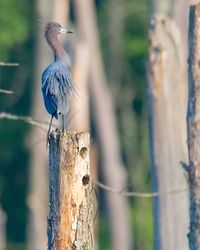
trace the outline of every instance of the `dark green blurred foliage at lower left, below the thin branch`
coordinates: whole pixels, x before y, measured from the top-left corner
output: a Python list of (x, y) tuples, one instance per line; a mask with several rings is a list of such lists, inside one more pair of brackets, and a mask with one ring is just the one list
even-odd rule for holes
[(0, 175), (4, 180), (0, 184), (0, 201), (7, 213), (8, 238), (14, 241), (24, 241), (27, 219), (27, 152), (22, 146), (24, 129), (24, 124), (19, 122), (14, 126), (9, 121), (0, 122)]

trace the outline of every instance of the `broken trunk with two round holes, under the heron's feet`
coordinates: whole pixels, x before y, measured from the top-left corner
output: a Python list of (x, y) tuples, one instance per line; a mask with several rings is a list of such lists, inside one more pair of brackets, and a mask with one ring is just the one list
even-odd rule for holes
[(94, 249), (89, 147), (88, 133), (51, 133), (48, 250)]

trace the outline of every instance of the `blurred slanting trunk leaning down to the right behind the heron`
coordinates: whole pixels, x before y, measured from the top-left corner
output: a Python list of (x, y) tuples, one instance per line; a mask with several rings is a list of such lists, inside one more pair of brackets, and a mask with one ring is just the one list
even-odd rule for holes
[[(87, 41), (91, 54), (90, 94), (93, 115), (102, 152), (102, 171), (108, 185), (115, 188), (126, 186), (125, 171), (120, 158), (119, 141), (114, 109), (106, 84), (92, 0), (75, 0), (76, 18), (82, 37)], [(130, 225), (128, 201), (125, 197), (107, 193), (109, 219), (112, 233), (112, 249), (130, 250)]]

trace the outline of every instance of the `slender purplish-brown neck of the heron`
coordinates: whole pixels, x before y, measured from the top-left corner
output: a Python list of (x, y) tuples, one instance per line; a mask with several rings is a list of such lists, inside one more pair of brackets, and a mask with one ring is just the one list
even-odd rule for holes
[(54, 52), (55, 61), (57, 60), (65, 61), (68, 59), (68, 54), (61, 45), (61, 43), (59, 42), (57, 37), (50, 37), (50, 39), (47, 39), (47, 41)]

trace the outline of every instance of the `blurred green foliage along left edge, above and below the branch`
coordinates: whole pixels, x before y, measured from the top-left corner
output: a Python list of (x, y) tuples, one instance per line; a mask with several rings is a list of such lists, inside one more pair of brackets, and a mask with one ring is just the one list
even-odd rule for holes
[[(14, 91), (13, 95), (1, 94), (1, 112), (30, 113), (33, 10), (33, 1), (0, 1), (0, 61), (20, 64), (19, 67), (0, 67), (0, 88)], [(28, 132), (29, 127), (24, 123), (0, 120), (0, 203), (7, 214), (10, 250), (22, 250), (26, 240), (29, 153), (25, 139)]]

